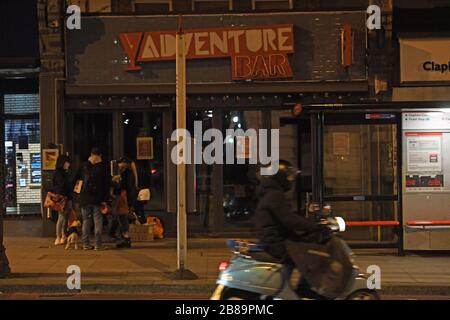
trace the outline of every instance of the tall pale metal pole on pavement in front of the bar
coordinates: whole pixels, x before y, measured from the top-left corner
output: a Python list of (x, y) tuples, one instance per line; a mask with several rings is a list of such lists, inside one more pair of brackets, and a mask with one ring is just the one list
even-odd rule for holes
[[(176, 34), (176, 125), (177, 130), (186, 130), (186, 53), (181, 18)], [(186, 139), (187, 137), (184, 137)], [(181, 139), (181, 138), (179, 138)], [(178, 140), (178, 145), (181, 141)], [(183, 140), (183, 158), (191, 141)], [(181, 154), (180, 154), (181, 156)], [(186, 163), (177, 165), (177, 270), (172, 275), (176, 279), (197, 279), (198, 277), (186, 268), (187, 260), (187, 203), (186, 203)]]

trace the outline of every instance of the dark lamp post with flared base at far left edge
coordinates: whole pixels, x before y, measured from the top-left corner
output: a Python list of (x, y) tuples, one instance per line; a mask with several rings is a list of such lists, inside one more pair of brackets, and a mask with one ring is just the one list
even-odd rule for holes
[[(3, 103), (0, 102), (0, 201), (5, 201), (5, 119)], [(3, 216), (5, 206), (0, 206), (0, 278), (5, 278), (11, 272), (6, 249), (3, 245)]]

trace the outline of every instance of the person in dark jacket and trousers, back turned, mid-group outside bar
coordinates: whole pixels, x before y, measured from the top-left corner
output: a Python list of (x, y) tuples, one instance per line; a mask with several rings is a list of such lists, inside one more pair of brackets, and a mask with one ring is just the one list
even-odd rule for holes
[[(79, 205), (83, 217), (82, 241), (84, 250), (102, 250), (103, 215), (100, 209), (109, 199), (110, 177), (98, 148), (92, 148), (91, 155), (77, 175), (83, 181)], [(94, 220), (95, 247), (90, 245), (89, 233)]]

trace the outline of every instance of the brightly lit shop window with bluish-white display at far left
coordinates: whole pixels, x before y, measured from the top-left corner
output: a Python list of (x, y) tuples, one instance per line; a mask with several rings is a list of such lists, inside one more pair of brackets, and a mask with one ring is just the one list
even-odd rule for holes
[(41, 208), (39, 96), (5, 95), (4, 108), (6, 213), (39, 214)]

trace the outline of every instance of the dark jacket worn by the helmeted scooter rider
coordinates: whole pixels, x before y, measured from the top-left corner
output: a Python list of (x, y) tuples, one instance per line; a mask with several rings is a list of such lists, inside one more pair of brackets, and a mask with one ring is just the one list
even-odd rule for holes
[(315, 221), (292, 211), (282, 185), (274, 178), (262, 179), (258, 198), (255, 222), (259, 239), (266, 246), (266, 252), (277, 259), (287, 257), (285, 240), (301, 241), (299, 232), (314, 232), (321, 228)]

